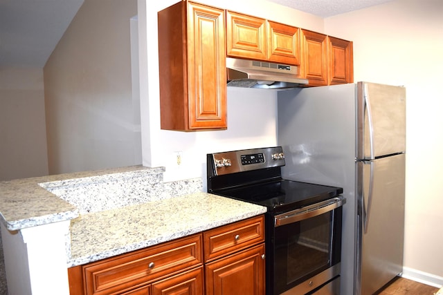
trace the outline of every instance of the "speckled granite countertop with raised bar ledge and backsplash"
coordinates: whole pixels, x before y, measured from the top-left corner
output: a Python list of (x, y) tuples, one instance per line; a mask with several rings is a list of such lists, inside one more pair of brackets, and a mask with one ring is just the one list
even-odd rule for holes
[(129, 166), (1, 181), (0, 221), (17, 231), (71, 220), (66, 256), (73, 267), (266, 212), (202, 193), (192, 180), (165, 184), (164, 171)]

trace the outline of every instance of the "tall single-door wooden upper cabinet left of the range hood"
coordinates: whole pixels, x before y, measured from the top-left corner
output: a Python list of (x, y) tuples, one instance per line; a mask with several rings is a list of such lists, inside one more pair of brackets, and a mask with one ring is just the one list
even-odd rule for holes
[(226, 129), (224, 10), (181, 1), (158, 17), (161, 129)]

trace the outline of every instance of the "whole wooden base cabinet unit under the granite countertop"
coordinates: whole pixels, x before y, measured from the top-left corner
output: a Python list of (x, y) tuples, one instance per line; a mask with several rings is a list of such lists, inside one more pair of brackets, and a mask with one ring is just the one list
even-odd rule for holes
[(264, 216), (71, 267), (68, 276), (71, 295), (264, 295)]

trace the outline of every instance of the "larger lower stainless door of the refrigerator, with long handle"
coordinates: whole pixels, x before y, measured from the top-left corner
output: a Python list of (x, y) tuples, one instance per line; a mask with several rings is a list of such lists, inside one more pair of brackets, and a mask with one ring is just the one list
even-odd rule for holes
[[(369, 295), (403, 270), (405, 154), (357, 163), (356, 294)], [(371, 178), (372, 177), (372, 178)], [(361, 288), (361, 292), (359, 292)]]

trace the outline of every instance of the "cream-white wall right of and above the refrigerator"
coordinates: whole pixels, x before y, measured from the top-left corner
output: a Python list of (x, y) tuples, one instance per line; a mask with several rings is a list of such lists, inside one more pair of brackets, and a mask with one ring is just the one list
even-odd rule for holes
[(325, 30), (354, 41), (354, 81), (406, 86), (404, 272), (443, 284), (443, 1), (392, 1), (329, 17)]

